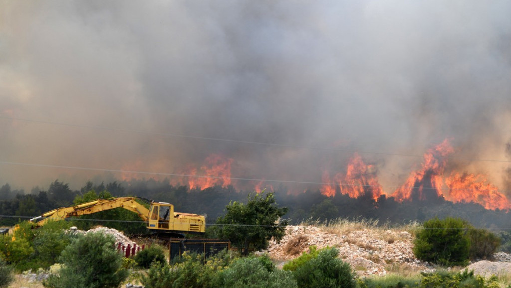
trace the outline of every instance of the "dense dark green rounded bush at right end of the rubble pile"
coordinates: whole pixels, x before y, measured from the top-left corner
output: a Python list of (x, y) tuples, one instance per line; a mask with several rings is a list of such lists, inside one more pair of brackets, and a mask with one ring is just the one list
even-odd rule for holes
[(423, 261), (440, 265), (465, 265), (470, 253), (466, 230), (470, 227), (459, 218), (428, 220), (416, 233), (413, 254)]

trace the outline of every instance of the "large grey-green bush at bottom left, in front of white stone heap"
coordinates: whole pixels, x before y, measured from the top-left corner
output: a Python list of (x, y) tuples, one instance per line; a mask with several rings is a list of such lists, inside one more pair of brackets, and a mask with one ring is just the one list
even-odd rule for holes
[(115, 239), (102, 233), (87, 233), (73, 239), (59, 261), (58, 274), (43, 281), (45, 287), (118, 287), (128, 276), (122, 268), (123, 256), (114, 247)]

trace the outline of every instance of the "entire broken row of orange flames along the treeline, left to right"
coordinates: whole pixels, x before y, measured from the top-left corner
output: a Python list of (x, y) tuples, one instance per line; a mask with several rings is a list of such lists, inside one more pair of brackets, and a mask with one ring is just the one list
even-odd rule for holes
[[(477, 203), (486, 209), (511, 209), (511, 203), (498, 188), (489, 183), (483, 174), (467, 172), (446, 173), (448, 156), (454, 153), (449, 139), (427, 150), (423, 161), (413, 170), (407, 180), (393, 191), (385, 191), (378, 180), (377, 169), (367, 164), (358, 154), (350, 158), (345, 173), (331, 175), (323, 171), (320, 193), (335, 197), (347, 195), (351, 198), (370, 196), (375, 201), (382, 196), (393, 197), (398, 202), (428, 201), (443, 198), (453, 203)], [(239, 181), (233, 181), (231, 165), (234, 159), (212, 154), (197, 166), (189, 164), (176, 173), (179, 177), (171, 184), (188, 185), (190, 189), (205, 189), (215, 185), (239, 188)], [(447, 175), (448, 174), (448, 175)], [(135, 174), (125, 173), (123, 180), (137, 178)], [(260, 192), (263, 188), (273, 190), (264, 180), (251, 181), (250, 189)], [(246, 187), (246, 185), (244, 185)]]

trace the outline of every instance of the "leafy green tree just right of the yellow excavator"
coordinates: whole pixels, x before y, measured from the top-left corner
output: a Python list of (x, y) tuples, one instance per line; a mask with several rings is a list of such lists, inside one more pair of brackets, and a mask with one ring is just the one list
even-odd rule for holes
[(279, 222), (288, 208), (279, 208), (273, 193), (248, 195), (247, 204), (230, 202), (226, 213), (216, 221), (215, 232), (220, 238), (227, 238), (244, 255), (249, 248), (259, 250), (268, 246), (272, 237), (280, 241), (285, 234), (287, 220)]

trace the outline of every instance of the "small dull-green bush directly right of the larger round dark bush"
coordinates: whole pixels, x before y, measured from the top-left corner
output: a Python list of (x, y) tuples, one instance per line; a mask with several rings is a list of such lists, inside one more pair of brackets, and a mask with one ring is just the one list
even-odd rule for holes
[(484, 229), (468, 230), (470, 240), (470, 259), (490, 258), (500, 245), (500, 238)]

